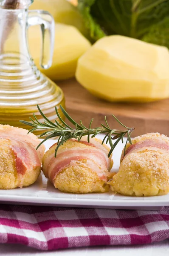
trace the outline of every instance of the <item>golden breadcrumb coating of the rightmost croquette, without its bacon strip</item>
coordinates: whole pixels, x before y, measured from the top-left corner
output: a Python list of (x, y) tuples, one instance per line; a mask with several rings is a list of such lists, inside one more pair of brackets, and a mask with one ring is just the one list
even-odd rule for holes
[[(169, 144), (169, 138), (159, 133), (135, 137), (132, 143), (155, 138), (160, 138)], [(154, 196), (168, 194), (169, 153), (164, 152), (161, 148), (143, 148), (143, 150), (132, 151), (121, 161), (118, 173), (113, 176), (109, 184), (115, 192), (122, 195)]]

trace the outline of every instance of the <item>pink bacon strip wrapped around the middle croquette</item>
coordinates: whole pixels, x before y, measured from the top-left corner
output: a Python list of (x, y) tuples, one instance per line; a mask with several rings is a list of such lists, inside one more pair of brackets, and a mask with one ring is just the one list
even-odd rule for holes
[(104, 151), (102, 151), (93, 143), (88, 143), (86, 141), (80, 141), (78, 143), (90, 145), (92, 148), (65, 148), (65, 151), (62, 151), (61, 153), (58, 152), (56, 158), (54, 157), (54, 154), (51, 154), (45, 159), (45, 163), (43, 165), (43, 172), (45, 174), (45, 177), (49, 178), (51, 182), (54, 182), (56, 175), (61, 172), (66, 166), (76, 164), (76, 161), (78, 160), (87, 160), (87, 165), (90, 166), (90, 168), (98, 174), (99, 178), (106, 180), (106, 175), (104, 174), (104, 172), (110, 166), (110, 160), (107, 157), (107, 154), (105, 154)]

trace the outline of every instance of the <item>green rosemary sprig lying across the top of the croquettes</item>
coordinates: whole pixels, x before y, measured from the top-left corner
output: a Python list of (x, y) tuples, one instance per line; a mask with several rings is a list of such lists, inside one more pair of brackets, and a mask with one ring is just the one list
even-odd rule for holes
[[(96, 127), (96, 128), (91, 128), (93, 119), (91, 119), (90, 121), (90, 125), (89, 128), (85, 127), (85, 125), (82, 124), (82, 120), (80, 121), (80, 124), (78, 124), (75, 120), (73, 120), (71, 118), (71, 116), (69, 116), (69, 114), (65, 111), (65, 109), (60, 105), (61, 111), (64, 114), (64, 116), (74, 125), (74, 128), (70, 127), (68, 124), (66, 124), (66, 122), (61, 118), (61, 116), (59, 115), (57, 108), (55, 107), (55, 111), (56, 114), (58, 116), (58, 119), (60, 120), (61, 124), (55, 120), (54, 122), (51, 122), (45, 115), (44, 113), (41, 111), (41, 109), (39, 108), (39, 106), (37, 105), (38, 111), (41, 114), (41, 116), (44, 118), (44, 122), (41, 123), (38, 121), (37, 117), (34, 116), (34, 119), (32, 119), (30, 117), (31, 122), (26, 122), (21, 120), (20, 122), (25, 124), (25, 125), (29, 125), (33, 128), (31, 128), (31, 130), (29, 130), (29, 132), (34, 132), (37, 129), (41, 129), (41, 130), (48, 130), (45, 131), (44, 133), (42, 133), (40, 135), (40, 137), (46, 135), (47, 137), (42, 140), (41, 143), (39, 143), (39, 145), (37, 146), (37, 148), (39, 148), (39, 146), (44, 143), (46, 140), (54, 138), (54, 137), (59, 137), (58, 138), (58, 142), (57, 142), (57, 146), (55, 149), (55, 157), (57, 154), (57, 150), (59, 148), (60, 145), (63, 145), (63, 143), (65, 143), (67, 140), (70, 139), (78, 139), (78, 141), (80, 141), (82, 139), (83, 136), (87, 135), (87, 140), (88, 142), (90, 142), (90, 135), (91, 138), (95, 137), (97, 134), (105, 134), (104, 139), (102, 141), (102, 144), (104, 143), (104, 141), (106, 140), (106, 144), (109, 142), (110, 144), (110, 151), (108, 154), (108, 157), (110, 157), (111, 153), (113, 152), (115, 146), (118, 144), (118, 142), (121, 140), (123, 143), (123, 137), (124, 135), (127, 134), (127, 142), (129, 142), (130, 144), (132, 144), (131, 141), (131, 133), (134, 130), (134, 128), (129, 128), (125, 125), (123, 125), (120, 121), (118, 121), (118, 119), (112, 114), (112, 116), (115, 118), (115, 120), (122, 125), (124, 128), (126, 128), (125, 130), (117, 130), (117, 129), (111, 129), (110, 126), (108, 125), (106, 116), (105, 116), (105, 123), (101, 124), (101, 127)], [(114, 136), (113, 136), (114, 135)], [(112, 137), (113, 136), (113, 137)], [(115, 140), (115, 143), (113, 143), (113, 140)], [(126, 143), (127, 145), (127, 143)], [(125, 148), (126, 148), (125, 145)], [(125, 149), (124, 149), (124, 154), (125, 154)]]

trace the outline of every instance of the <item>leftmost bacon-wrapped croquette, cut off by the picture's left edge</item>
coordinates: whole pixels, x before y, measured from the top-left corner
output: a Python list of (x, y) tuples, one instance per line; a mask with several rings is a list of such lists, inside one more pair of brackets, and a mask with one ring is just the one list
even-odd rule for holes
[(34, 183), (41, 169), (45, 146), (28, 130), (0, 125), (0, 189), (14, 189)]

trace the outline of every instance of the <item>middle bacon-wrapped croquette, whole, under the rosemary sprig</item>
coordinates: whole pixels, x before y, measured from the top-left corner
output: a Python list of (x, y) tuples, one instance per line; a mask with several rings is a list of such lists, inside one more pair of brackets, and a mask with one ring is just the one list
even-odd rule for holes
[(113, 161), (107, 157), (109, 148), (101, 145), (96, 138), (87, 142), (87, 137), (81, 141), (68, 140), (61, 145), (54, 156), (56, 144), (44, 155), (42, 169), (45, 177), (54, 186), (71, 193), (105, 192), (109, 189), (107, 177)]

